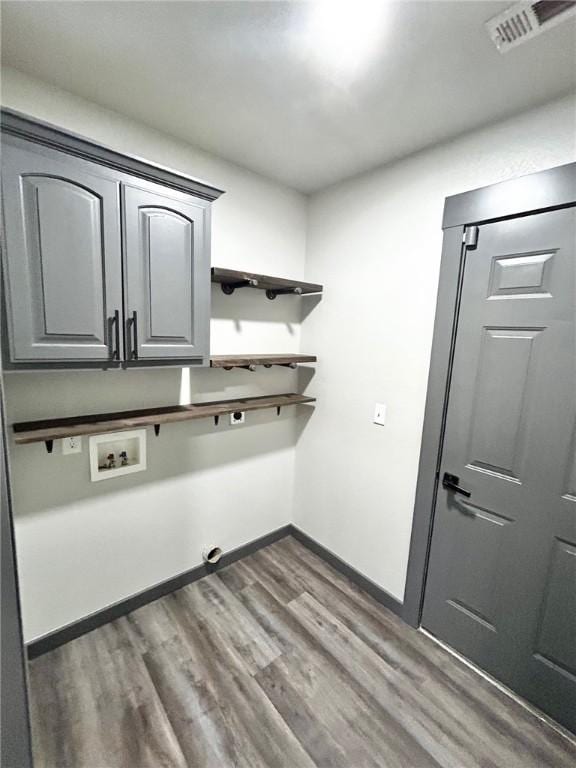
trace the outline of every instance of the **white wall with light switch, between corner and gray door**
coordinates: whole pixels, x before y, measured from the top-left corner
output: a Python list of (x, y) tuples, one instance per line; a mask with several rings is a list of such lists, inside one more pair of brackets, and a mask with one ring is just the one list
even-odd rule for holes
[[(383, 140), (385, 140), (383, 138)], [(444, 198), (576, 159), (566, 98), (315, 195), (307, 278), (322, 312), (314, 418), (297, 450), (294, 522), (403, 599)], [(375, 402), (387, 423), (371, 423)]]

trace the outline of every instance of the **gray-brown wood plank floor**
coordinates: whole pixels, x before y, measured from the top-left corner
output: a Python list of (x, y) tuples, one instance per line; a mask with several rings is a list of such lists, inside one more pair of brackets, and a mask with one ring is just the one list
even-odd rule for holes
[(573, 768), (293, 538), (30, 663), (37, 768)]

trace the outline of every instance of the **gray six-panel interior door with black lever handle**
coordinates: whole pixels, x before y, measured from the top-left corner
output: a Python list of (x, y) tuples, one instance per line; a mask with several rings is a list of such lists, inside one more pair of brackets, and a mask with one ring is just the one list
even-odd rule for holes
[(575, 265), (574, 208), (486, 224), (466, 254), (422, 618), (572, 730)]

